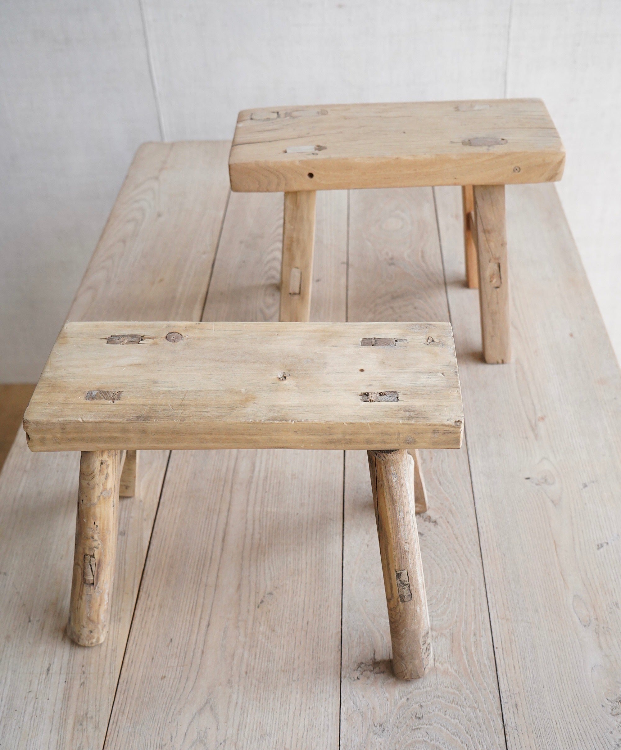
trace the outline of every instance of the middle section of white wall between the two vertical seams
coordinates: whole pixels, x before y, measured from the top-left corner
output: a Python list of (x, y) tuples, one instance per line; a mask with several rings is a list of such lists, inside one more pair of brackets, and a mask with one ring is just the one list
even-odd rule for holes
[(166, 139), (239, 110), (502, 96), (508, 0), (144, 0)]

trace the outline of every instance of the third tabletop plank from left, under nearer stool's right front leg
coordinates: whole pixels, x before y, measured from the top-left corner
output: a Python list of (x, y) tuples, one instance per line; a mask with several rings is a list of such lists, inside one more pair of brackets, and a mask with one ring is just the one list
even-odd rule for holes
[[(350, 232), (349, 320), (449, 320), (430, 189), (352, 193)], [(341, 747), (496, 750), (504, 736), (466, 448), (419, 457), (434, 667), (403, 682), (389, 663), (367, 456), (346, 454)]]

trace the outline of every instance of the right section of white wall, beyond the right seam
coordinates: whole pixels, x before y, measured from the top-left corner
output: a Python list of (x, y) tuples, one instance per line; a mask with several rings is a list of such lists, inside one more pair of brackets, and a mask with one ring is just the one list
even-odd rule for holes
[(621, 3), (514, 0), (507, 96), (544, 99), (567, 161), (557, 185), (621, 359)]

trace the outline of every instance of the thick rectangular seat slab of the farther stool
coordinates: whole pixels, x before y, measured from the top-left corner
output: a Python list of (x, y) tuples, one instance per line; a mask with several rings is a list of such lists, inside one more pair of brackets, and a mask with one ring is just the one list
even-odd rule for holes
[(270, 107), (239, 113), (236, 191), (559, 180), (565, 150), (540, 99)]

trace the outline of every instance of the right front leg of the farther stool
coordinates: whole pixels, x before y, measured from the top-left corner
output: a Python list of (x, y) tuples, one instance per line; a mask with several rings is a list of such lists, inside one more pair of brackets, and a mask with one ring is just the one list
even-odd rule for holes
[(485, 362), (511, 360), (505, 186), (475, 185), (478, 299)]

